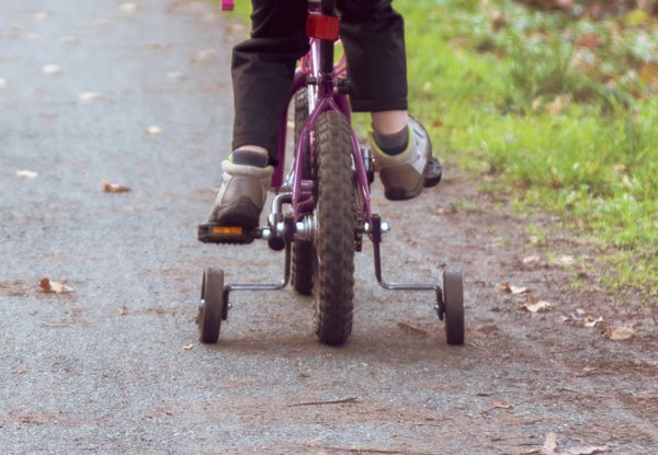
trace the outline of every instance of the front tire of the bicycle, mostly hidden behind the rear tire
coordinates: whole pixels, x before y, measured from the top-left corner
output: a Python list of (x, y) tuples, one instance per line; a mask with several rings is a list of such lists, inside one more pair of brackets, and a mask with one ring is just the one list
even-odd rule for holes
[[(297, 145), (299, 144), (299, 139), (304, 140), (304, 147), (308, 148), (309, 140), (308, 137), (300, 138), (302, 128), (304, 127), (304, 123), (306, 123), (306, 118), (308, 118), (308, 93), (306, 87), (297, 90), (295, 93), (295, 145), (294, 150), (297, 150)], [(310, 170), (310, 153), (308, 150), (304, 153), (306, 158), (305, 167), (304, 167), (304, 179), (311, 179), (311, 170)], [(292, 257), (292, 268), (291, 268), (291, 283), (293, 284), (293, 288), (302, 295), (311, 295), (313, 294), (313, 274), (314, 274), (314, 263), (316, 260), (315, 248), (313, 242), (307, 240), (295, 240), (293, 242), (293, 257)]]

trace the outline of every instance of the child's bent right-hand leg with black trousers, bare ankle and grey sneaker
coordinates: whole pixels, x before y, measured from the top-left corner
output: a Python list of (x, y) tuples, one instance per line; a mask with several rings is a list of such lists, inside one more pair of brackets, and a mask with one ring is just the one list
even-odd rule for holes
[(405, 23), (392, 0), (339, 0), (354, 111), (372, 113), (368, 140), (392, 200), (420, 194), (432, 155), (424, 128), (407, 114)]

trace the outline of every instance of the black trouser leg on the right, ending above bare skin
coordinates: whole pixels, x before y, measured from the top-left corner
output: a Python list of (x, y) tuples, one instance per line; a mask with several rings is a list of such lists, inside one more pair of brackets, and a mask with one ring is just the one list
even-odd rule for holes
[(407, 110), (405, 21), (393, 0), (338, 0), (341, 38), (358, 112)]

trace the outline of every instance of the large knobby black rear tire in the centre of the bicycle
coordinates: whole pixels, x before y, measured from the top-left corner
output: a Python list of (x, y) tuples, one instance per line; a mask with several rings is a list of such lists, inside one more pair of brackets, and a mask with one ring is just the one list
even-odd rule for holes
[(352, 332), (354, 307), (354, 232), (352, 133), (347, 118), (328, 111), (315, 125), (317, 157), (317, 253), (314, 280), (318, 339), (343, 344)]

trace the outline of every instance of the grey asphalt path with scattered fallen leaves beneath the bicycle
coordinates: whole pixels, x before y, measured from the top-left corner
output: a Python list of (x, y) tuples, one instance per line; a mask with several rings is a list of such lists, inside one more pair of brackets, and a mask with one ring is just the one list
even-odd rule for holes
[[(551, 434), (658, 453), (655, 326), (614, 344), (564, 325), (578, 298), (605, 303), (519, 268), (523, 221), (478, 209), (457, 177), (406, 205), (375, 186), (374, 204), (394, 226), (385, 277), (465, 269), (465, 346), (445, 345), (431, 295), (376, 285), (370, 246), (345, 346), (316, 341), (291, 289), (235, 294), (219, 344), (198, 343), (204, 268), (282, 273), (263, 242), (195, 239), (245, 33), (205, 3), (0, 0), (0, 453), (530, 454)], [(520, 311), (504, 280), (563, 309)]]

